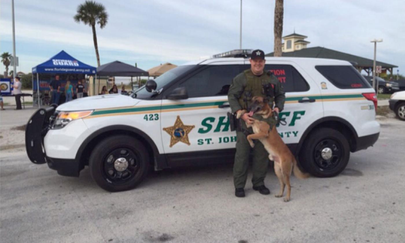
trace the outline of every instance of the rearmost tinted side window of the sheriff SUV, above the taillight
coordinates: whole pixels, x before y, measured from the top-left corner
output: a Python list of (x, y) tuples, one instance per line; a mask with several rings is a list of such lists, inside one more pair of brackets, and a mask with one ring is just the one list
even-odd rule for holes
[(353, 66), (315, 66), (315, 68), (339, 89), (364, 89), (371, 87)]

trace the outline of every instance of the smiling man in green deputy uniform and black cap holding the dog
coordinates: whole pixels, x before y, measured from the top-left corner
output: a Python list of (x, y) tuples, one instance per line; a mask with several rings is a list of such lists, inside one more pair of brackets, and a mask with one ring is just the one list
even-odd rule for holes
[[(283, 86), (278, 81), (277, 77), (270, 71), (264, 71), (264, 52), (262, 50), (254, 50), (250, 61), (250, 69), (240, 73), (232, 80), (228, 92), (228, 101), (232, 113), (239, 110), (247, 109), (254, 96), (262, 96), (269, 100), (269, 106), (273, 107), (273, 111), (279, 113), (284, 107), (286, 100)], [(274, 104), (273, 104), (274, 103)], [(274, 117), (263, 119), (260, 115), (249, 116), (248, 113), (242, 115), (241, 119), (252, 124), (254, 119), (264, 120), (271, 127), (277, 122)], [(246, 139), (247, 133), (253, 133), (252, 128), (247, 128), (245, 122), (240, 122), (239, 128), (236, 130), (236, 154), (233, 166), (233, 180), (235, 185), (235, 196), (245, 196), (245, 184), (247, 179), (247, 167), (249, 164), (249, 153), (252, 149)], [(255, 141), (253, 148), (253, 189), (259, 191), (260, 194), (268, 195), (270, 190), (264, 185), (264, 177), (269, 167), (269, 153), (262, 143)]]

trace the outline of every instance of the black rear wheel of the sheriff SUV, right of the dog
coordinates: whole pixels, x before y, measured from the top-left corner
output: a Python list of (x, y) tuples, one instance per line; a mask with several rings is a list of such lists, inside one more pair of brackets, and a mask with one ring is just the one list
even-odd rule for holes
[(333, 177), (345, 169), (349, 157), (349, 143), (343, 134), (332, 128), (319, 128), (306, 139), (300, 163), (315, 177)]

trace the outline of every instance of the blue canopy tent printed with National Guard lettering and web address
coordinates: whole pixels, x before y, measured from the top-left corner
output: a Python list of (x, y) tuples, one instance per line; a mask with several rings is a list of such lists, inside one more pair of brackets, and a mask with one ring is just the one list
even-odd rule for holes
[[(36, 83), (34, 83), (34, 74), (36, 73)], [(58, 73), (58, 74), (87, 74), (96, 75), (96, 68), (80, 62), (65, 51), (54, 55), (44, 63), (32, 68), (32, 89), (37, 90), (38, 107), (40, 107), (39, 90), (48, 89), (48, 82), (39, 82), (39, 73)], [(94, 79), (95, 80), (95, 79)]]

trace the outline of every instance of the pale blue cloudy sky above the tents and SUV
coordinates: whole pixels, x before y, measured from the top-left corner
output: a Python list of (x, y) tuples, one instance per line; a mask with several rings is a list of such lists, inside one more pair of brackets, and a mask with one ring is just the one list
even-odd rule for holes
[[(179, 65), (239, 49), (240, 0), (97, 0), (108, 23), (96, 27), (100, 62), (120, 60), (147, 70)], [(96, 66), (90, 26), (73, 16), (84, 0), (15, 0), (17, 72), (61, 50)], [(243, 0), (242, 48), (273, 51), (275, 0)], [(285, 0), (283, 36), (308, 36), (307, 47), (326, 47), (394, 64), (405, 74), (403, 0)], [(13, 53), (11, 0), (0, 1), (0, 53)], [(0, 64), (0, 73), (5, 67)], [(12, 70), (12, 67), (9, 67)]]

